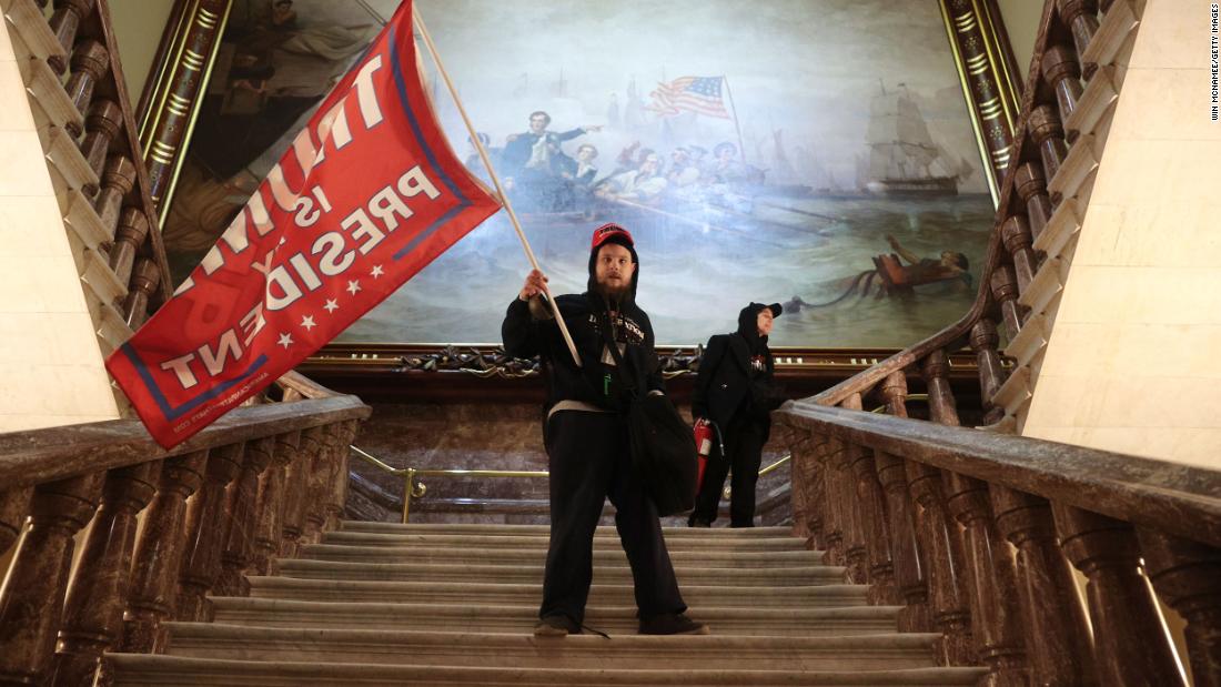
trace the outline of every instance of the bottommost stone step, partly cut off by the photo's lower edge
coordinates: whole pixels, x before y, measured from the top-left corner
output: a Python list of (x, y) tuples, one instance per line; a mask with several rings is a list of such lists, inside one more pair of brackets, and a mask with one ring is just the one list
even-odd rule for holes
[(299, 687), (300, 685), (411, 685), (433, 687), (479, 685), (523, 687), (582, 685), (684, 685), (720, 687), (946, 687), (974, 685), (987, 671), (976, 667), (917, 667), (906, 670), (795, 671), (795, 670), (602, 670), (526, 667), (438, 667), (427, 665), (370, 665), (306, 661), (242, 661), (155, 654), (107, 654), (115, 685), (220, 685)]

